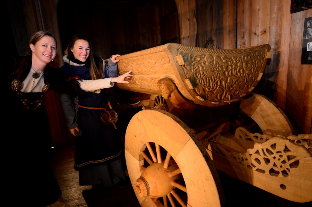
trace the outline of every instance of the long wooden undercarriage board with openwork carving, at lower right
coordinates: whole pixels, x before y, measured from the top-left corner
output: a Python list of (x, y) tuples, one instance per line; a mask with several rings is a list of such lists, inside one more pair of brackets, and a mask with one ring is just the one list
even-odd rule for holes
[[(218, 135), (207, 151), (223, 172), (295, 202), (312, 200), (312, 134), (269, 136), (238, 127), (235, 135)], [(226, 166), (224, 166), (227, 164)]]

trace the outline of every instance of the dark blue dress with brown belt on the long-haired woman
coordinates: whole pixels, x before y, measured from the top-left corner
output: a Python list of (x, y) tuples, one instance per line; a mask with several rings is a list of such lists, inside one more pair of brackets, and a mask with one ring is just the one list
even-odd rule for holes
[[(76, 59), (72, 62), (66, 56), (64, 61), (61, 70), (68, 75), (91, 80), (88, 62)], [(105, 77), (117, 76), (117, 64), (110, 61), (109, 66), (105, 65)], [(79, 184), (84, 186), (102, 183), (103, 186), (110, 187), (125, 180), (122, 160), (124, 153), (118, 131), (112, 125), (101, 122), (103, 109), (89, 109), (104, 108), (107, 105), (105, 89), (99, 93), (85, 92), (77, 97), (61, 97), (69, 128), (75, 128), (77, 124), (81, 131), (81, 136), (75, 138), (74, 164), (79, 172)]]

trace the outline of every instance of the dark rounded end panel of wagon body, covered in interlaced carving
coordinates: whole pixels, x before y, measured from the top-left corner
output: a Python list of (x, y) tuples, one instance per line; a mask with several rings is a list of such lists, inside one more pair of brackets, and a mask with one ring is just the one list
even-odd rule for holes
[(180, 51), (183, 70), (194, 91), (203, 99), (220, 101), (240, 97), (251, 89), (263, 69), (266, 51), (250, 54), (215, 55)]

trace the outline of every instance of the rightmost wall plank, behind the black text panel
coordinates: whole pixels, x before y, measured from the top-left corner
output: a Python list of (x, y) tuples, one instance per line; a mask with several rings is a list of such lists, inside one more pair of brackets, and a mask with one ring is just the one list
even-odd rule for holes
[(291, 15), (285, 108), (299, 133), (312, 133), (312, 66), (301, 65), (304, 22), (311, 16), (312, 9)]

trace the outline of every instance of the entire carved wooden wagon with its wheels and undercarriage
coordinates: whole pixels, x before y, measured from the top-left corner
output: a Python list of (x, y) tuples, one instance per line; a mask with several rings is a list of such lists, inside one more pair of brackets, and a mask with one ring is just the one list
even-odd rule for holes
[[(295, 202), (312, 200), (311, 134), (253, 93), (270, 45), (207, 49), (169, 43), (119, 56), (122, 90), (150, 94), (127, 127), (125, 157), (141, 206), (222, 206), (216, 169)], [(200, 196), (199, 196), (200, 195)]]

